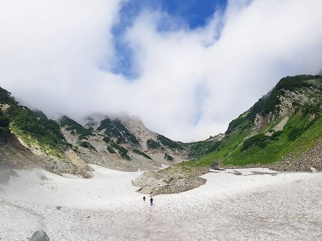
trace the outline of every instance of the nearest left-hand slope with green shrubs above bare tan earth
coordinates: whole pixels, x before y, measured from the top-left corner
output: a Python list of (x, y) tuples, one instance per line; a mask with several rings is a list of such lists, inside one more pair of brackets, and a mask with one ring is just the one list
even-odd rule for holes
[(85, 161), (68, 157), (72, 153), (70, 144), (56, 122), (41, 111), (19, 105), (3, 88), (0, 88), (0, 125), (2, 164), (91, 176)]

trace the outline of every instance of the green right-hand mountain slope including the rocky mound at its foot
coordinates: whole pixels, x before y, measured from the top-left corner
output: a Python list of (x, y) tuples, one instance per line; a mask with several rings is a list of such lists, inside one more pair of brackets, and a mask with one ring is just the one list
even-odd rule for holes
[(143, 193), (158, 195), (198, 187), (204, 183), (199, 175), (218, 166), (321, 171), (321, 114), (321, 76), (282, 78), (250, 110), (230, 122), (225, 136), (204, 157), (146, 173), (134, 183)]

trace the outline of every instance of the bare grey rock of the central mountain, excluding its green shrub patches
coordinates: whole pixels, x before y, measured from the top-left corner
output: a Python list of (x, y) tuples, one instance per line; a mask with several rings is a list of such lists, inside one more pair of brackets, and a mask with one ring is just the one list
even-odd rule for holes
[[(104, 137), (106, 135), (106, 129), (100, 130), (101, 121), (109, 118), (111, 121), (118, 121), (121, 125), (126, 128), (129, 133), (131, 133), (138, 140), (139, 144), (132, 143), (126, 138), (124, 141), (118, 142), (118, 138), (115, 136), (109, 136), (109, 141), (104, 141)], [(182, 162), (184, 159), (188, 158), (188, 151), (185, 149), (177, 150), (173, 148), (169, 148), (167, 146), (162, 145), (158, 141), (158, 133), (149, 130), (145, 127), (143, 122), (133, 116), (118, 116), (116, 117), (108, 117), (102, 114), (94, 114), (86, 117), (83, 123), (84, 127), (93, 129), (93, 135), (86, 137), (86, 142), (90, 143), (92, 149), (80, 147), (79, 146), (79, 135), (75, 134), (73, 130), (69, 130), (68, 126), (61, 127), (61, 131), (70, 144), (74, 148), (77, 147), (77, 151), (73, 154), (73, 160), (83, 159), (87, 163), (92, 163), (100, 166), (104, 166), (110, 169), (115, 169), (119, 171), (132, 171), (136, 172), (139, 170), (160, 170), (161, 164), (169, 165)], [(121, 131), (122, 132), (122, 131)], [(159, 148), (150, 149), (147, 146), (148, 140), (154, 140), (160, 144)], [(128, 153), (127, 155), (130, 157), (130, 161), (122, 157), (117, 148), (111, 147), (111, 143), (118, 143), (119, 146), (125, 148)], [(108, 151), (108, 147), (114, 150), (114, 153)], [(145, 153), (152, 158), (146, 158), (145, 156), (134, 152), (134, 150), (138, 150), (141, 153)], [(167, 153), (174, 157), (173, 162), (169, 163), (168, 160), (164, 160), (164, 153)], [(79, 158), (77, 158), (77, 155)], [(77, 161), (78, 162), (78, 161)]]

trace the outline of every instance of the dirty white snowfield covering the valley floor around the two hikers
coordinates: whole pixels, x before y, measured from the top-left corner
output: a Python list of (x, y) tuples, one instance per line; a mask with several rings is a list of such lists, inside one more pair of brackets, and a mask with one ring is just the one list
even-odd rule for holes
[(0, 185), (0, 240), (37, 229), (51, 241), (322, 239), (322, 173), (214, 171), (205, 185), (150, 206), (131, 183), (141, 172), (92, 168), (91, 179), (17, 171)]

